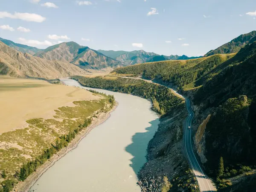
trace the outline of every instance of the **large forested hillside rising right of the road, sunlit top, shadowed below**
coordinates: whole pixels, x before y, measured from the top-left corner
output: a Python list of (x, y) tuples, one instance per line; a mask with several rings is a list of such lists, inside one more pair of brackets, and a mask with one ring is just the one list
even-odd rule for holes
[[(197, 148), (199, 156), (205, 157), (207, 173), (216, 178), (219, 189), (252, 186), (253, 179), (236, 183), (233, 177), (244, 178), (241, 174), (256, 168), (256, 42), (237, 54), (138, 64), (113, 72), (182, 88), (192, 100), (196, 128), (211, 115)], [(232, 183), (236, 183), (233, 188)]]

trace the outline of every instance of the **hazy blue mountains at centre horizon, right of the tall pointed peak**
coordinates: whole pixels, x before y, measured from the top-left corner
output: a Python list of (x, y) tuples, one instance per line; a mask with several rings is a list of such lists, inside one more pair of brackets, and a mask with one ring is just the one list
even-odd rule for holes
[(108, 57), (114, 58), (117, 61), (120, 61), (127, 65), (133, 64), (140, 64), (140, 63), (148, 63), (148, 62), (155, 62), (155, 61), (166, 61), (166, 60), (186, 60), (192, 58), (200, 58), (200, 57), (188, 57), (186, 55), (158, 55), (154, 52), (145, 52), (144, 50), (135, 50), (135, 51), (105, 51), (105, 50), (98, 50), (104, 55)]

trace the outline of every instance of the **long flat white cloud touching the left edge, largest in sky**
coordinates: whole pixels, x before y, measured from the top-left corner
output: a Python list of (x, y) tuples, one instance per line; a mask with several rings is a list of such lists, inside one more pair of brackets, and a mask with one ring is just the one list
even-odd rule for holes
[(26, 20), (26, 21), (34, 21), (34, 22), (38, 22), (38, 23), (41, 23), (44, 20), (46, 20), (45, 17), (42, 17), (41, 15), (37, 15), (35, 13), (17, 13), (17, 12), (15, 12), (15, 14), (11, 14), (8, 12), (0, 12), (0, 18), (5, 18), (5, 17), (9, 17), (12, 19), (21, 19), (21, 20)]

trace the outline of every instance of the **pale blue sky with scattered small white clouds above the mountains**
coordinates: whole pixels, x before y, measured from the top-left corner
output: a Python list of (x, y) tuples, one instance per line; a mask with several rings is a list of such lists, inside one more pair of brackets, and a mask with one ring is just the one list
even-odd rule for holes
[(256, 30), (256, 0), (0, 0), (0, 37), (41, 49), (204, 55)]

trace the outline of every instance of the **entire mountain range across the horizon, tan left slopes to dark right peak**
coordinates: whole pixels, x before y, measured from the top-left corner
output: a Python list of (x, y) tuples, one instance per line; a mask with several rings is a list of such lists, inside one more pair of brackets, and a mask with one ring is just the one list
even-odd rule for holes
[[(240, 35), (215, 50), (209, 51), (204, 57), (219, 53), (235, 53), (255, 40), (256, 31), (252, 31)], [(20, 77), (56, 78), (68, 76), (69, 74), (90, 73), (91, 70), (112, 71), (118, 67), (147, 62), (201, 58), (188, 57), (186, 55), (158, 55), (144, 50), (131, 52), (94, 50), (73, 41), (56, 44), (47, 49), (17, 44), (3, 38), (0, 38), (0, 41), (3, 42), (0, 46), (0, 73)], [(8, 47), (4, 46), (4, 44)]]

